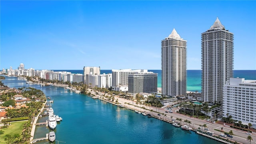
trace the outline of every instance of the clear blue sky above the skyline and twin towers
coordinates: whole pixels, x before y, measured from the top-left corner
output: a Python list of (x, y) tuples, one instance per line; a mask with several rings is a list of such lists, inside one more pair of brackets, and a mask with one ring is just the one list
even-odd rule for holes
[(161, 40), (187, 40), (201, 69), (201, 33), (216, 17), (234, 33), (234, 70), (256, 70), (256, 1), (0, 1), (0, 68), (161, 69)]

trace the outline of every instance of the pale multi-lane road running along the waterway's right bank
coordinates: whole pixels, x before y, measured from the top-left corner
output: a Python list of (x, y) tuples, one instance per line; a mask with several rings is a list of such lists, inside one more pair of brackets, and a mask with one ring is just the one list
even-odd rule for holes
[[(110, 101), (106, 100), (105, 97), (101, 96), (100, 92), (98, 92), (98, 94), (96, 94), (96, 92), (94, 92), (94, 90), (92, 90), (92, 89), (88, 89), (88, 92), (91, 92), (91, 94), (94, 94), (95, 96), (98, 96), (98, 98), (101, 99), (101, 100), (104, 100), (106, 102), (110, 102)], [(246, 134), (245, 131), (234, 129), (234, 128), (231, 128), (229, 126), (224, 126), (224, 125), (221, 125), (221, 124), (208, 122), (207, 120), (201, 120), (201, 119), (198, 119), (198, 118), (192, 118), (192, 117), (189, 117), (189, 116), (185, 116), (183, 114), (179, 114), (179, 113), (176, 112), (178, 110), (178, 108), (173, 110), (174, 111), (173, 113), (170, 113), (170, 112), (166, 112), (168, 110), (165, 110), (164, 108), (156, 108), (156, 107), (152, 107), (152, 106), (145, 106), (143, 104), (136, 104), (136, 102), (134, 102), (132, 100), (120, 98), (118, 96), (114, 96), (114, 98), (115, 98), (114, 102), (110, 102), (110, 103), (115, 104), (116, 100), (118, 100), (118, 103), (122, 104), (126, 108), (129, 108), (131, 110), (138, 110), (138, 111), (141, 111), (141, 112), (145, 111), (147, 114), (151, 114), (155, 118), (158, 118), (159, 120), (164, 120), (166, 122), (172, 122), (172, 120), (176, 120), (176, 118), (181, 118), (183, 121), (184, 120), (189, 120), (190, 122), (192, 122), (192, 124), (187, 124), (187, 125), (190, 125), (190, 127), (192, 127), (194, 130), (196, 130), (200, 127), (200, 129), (203, 132), (204, 131), (206, 132), (207, 130), (204, 130), (204, 127), (202, 127), (202, 125), (206, 124), (209, 131), (214, 132), (215, 136), (219, 136), (221, 134), (221, 132), (217, 131), (217, 130), (221, 130), (221, 128), (223, 129), (224, 132), (229, 132), (230, 130), (232, 130), (233, 133), (234, 133), (232, 141), (238, 142), (238, 143), (241, 143), (241, 144), (247, 144), (248, 143), (248, 140), (246, 140), (248, 135)], [(144, 107), (146, 109), (143, 109), (142, 107)], [(161, 116), (158, 116), (158, 114), (160, 114)], [(183, 122), (182, 124), (185, 125), (186, 123)], [(224, 132), (222, 132), (222, 134)], [(256, 140), (256, 134), (252, 134), (251, 136), (252, 136), (253, 140)], [(230, 140), (229, 137), (226, 137), (224, 139)]]

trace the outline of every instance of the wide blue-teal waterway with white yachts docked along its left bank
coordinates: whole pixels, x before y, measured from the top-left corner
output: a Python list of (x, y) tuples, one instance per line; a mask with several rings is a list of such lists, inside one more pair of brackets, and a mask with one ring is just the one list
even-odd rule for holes
[[(195, 132), (61, 87), (26, 84), (25, 80), (16, 77), (6, 77), (2, 82), (10, 87), (40, 89), (54, 100), (54, 114), (63, 118), (54, 130), (56, 140), (67, 144), (221, 144)], [(46, 119), (42, 117), (39, 122)], [(45, 126), (37, 126), (34, 138), (45, 137), (49, 131)], [(37, 144), (44, 143), (46, 141)]]

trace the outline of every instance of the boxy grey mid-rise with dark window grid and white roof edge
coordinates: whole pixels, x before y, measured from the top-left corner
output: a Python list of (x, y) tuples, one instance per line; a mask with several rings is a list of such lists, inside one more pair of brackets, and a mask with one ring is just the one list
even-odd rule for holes
[(136, 72), (128, 75), (128, 93), (135, 96), (138, 93), (157, 93), (157, 75), (153, 72)]

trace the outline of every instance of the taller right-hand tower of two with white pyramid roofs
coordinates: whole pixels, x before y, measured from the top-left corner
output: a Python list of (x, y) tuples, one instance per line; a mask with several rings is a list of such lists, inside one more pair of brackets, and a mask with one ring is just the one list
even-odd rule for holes
[(201, 34), (202, 97), (204, 102), (222, 103), (223, 86), (233, 74), (234, 34), (217, 18)]

